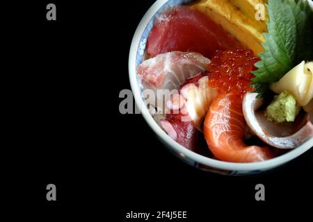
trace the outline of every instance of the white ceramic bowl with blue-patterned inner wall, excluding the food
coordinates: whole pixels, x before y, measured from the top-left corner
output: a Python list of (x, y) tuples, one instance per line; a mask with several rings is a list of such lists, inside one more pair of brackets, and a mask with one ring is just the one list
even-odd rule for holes
[[(310, 0), (309, 0), (310, 1)], [(145, 16), (141, 20), (141, 23), (138, 25), (134, 38), (131, 42), (131, 49), (129, 53), (129, 80), (131, 83), (131, 89), (134, 94), (134, 99), (136, 105), (141, 109), (141, 114), (149, 124), (149, 126), (154, 130), (154, 133), (157, 134), (159, 139), (166, 144), (166, 146), (175, 153), (178, 157), (181, 157), (182, 160), (188, 162), (194, 167), (200, 169), (205, 169), (209, 171), (214, 171), (218, 173), (223, 173), (227, 175), (246, 175), (253, 173), (260, 173), (275, 167), (279, 167), (282, 164), (293, 160), (299, 155), (305, 153), (313, 146), (313, 138), (307, 141), (305, 144), (295, 148), (294, 150), (289, 151), (284, 155), (275, 157), (271, 160), (266, 160), (264, 162), (255, 162), (255, 163), (232, 163), (232, 162), (223, 162), (220, 160), (214, 160), (193, 151), (188, 150), (184, 146), (178, 144), (173, 139), (171, 139), (154, 121), (146, 105), (142, 105), (143, 96), (141, 94), (141, 81), (138, 79), (136, 74), (136, 68), (143, 61), (145, 53), (145, 44), (147, 42), (147, 37), (152, 29), (153, 20), (156, 15), (163, 11), (164, 8), (175, 6), (184, 3), (191, 3), (191, 0), (158, 0), (156, 1), (151, 8), (145, 13)], [(310, 4), (313, 8), (313, 2), (310, 1)]]

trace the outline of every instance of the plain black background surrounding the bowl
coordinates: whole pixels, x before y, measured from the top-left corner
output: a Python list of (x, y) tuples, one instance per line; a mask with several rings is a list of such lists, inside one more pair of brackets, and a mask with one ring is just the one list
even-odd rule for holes
[[(190, 221), (312, 203), (313, 151), (258, 176), (199, 171), (173, 156), (140, 114), (122, 115), (131, 38), (154, 1), (31, 1), (8, 6), (9, 200), (47, 215), (187, 211)], [(57, 21), (45, 18), (56, 3)], [(10, 97), (11, 98), (11, 97)], [(57, 187), (57, 201), (45, 198)], [(266, 201), (255, 201), (255, 185)], [(24, 190), (21, 194), (20, 190)], [(87, 213), (87, 208), (91, 212)], [(245, 209), (245, 210), (243, 210)], [(106, 212), (106, 213), (104, 213)], [(240, 216), (241, 217), (241, 216)], [(198, 219), (198, 220), (196, 220)]]

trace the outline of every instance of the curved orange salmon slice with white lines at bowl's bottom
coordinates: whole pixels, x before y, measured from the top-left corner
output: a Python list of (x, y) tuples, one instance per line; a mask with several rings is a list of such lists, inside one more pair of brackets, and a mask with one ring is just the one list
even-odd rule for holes
[(227, 162), (259, 162), (273, 158), (267, 147), (243, 142), (245, 119), (236, 94), (221, 94), (212, 103), (204, 121), (204, 137), (214, 155)]

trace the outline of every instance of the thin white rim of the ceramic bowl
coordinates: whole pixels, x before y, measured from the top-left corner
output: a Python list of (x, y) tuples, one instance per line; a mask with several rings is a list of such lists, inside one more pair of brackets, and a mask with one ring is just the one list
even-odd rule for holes
[[(309, 0), (310, 1), (310, 0)], [(200, 164), (204, 164), (208, 167), (215, 167), (218, 169), (223, 170), (230, 170), (230, 171), (262, 171), (265, 169), (271, 169), (273, 167), (278, 167), (284, 163), (289, 162), (290, 160), (295, 159), (299, 155), (305, 153), (313, 146), (313, 138), (309, 139), (305, 144), (298, 146), (298, 148), (294, 148), (293, 150), (289, 151), (288, 153), (284, 153), (279, 157), (275, 157), (271, 160), (265, 160), (263, 162), (252, 162), (252, 163), (235, 163), (235, 162), (224, 162), (221, 160), (214, 160), (209, 157), (205, 157), (198, 153), (188, 150), (184, 146), (175, 142), (172, 138), (170, 138), (154, 121), (152, 115), (150, 114), (145, 102), (142, 99), (140, 87), (137, 81), (137, 74), (136, 74), (136, 56), (138, 51), (138, 46), (141, 41), (141, 36), (145, 31), (147, 24), (150, 20), (154, 17), (154, 15), (158, 12), (158, 10), (167, 3), (168, 0), (157, 0), (150, 8), (147, 10), (141, 22), (138, 24), (136, 28), (136, 32), (134, 33), (134, 37), (131, 41), (131, 47), (129, 51), (129, 81), (131, 85), (131, 90), (134, 94), (135, 103), (137, 108), (141, 111), (145, 121), (148, 123), (150, 128), (157, 134), (157, 136), (165, 142), (169, 148), (171, 148), (176, 153), (179, 153), (183, 157), (188, 157), (189, 159), (198, 162)], [(143, 105), (144, 104), (144, 105)]]

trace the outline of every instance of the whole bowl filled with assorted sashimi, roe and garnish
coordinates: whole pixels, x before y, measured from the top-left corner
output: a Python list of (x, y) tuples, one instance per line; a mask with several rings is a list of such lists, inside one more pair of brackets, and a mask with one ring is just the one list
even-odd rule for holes
[(161, 142), (227, 175), (273, 169), (312, 148), (312, 6), (156, 1), (131, 43), (129, 78)]

